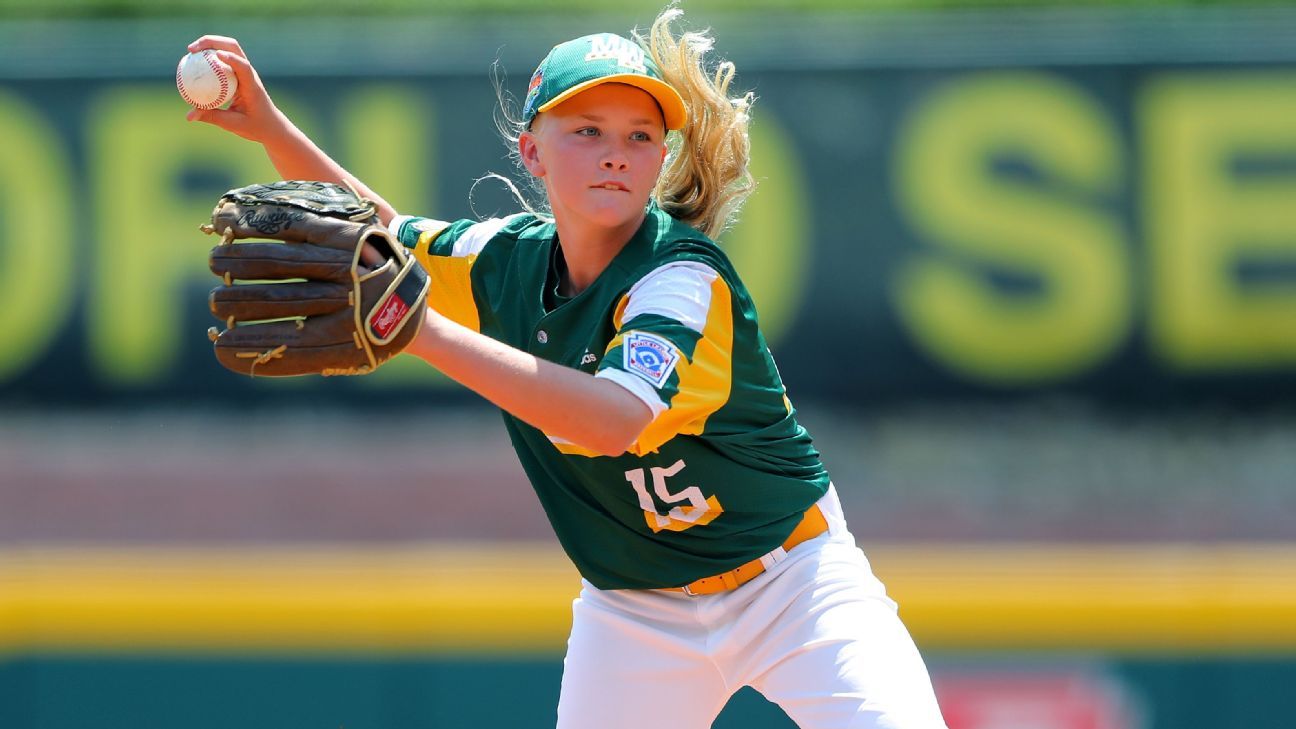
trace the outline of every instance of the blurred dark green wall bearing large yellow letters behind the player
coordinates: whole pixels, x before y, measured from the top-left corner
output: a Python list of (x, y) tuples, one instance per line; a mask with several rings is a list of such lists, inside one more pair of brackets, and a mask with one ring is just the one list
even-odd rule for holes
[[(1290, 398), (1296, 66), (1264, 43), (1283, 26), (1253, 35), (1291, 19), (1274, 13), (731, 19), (761, 188), (722, 244), (794, 400)], [(283, 108), (402, 211), (517, 209), (476, 184), (516, 173), (490, 69), (520, 96), (559, 26), (369, 22), (353, 43), (324, 21), (286, 38), (154, 21), (130, 47), (57, 54), (23, 34), (45, 25), (0, 26), (0, 403), (454, 398), (416, 366), (267, 384), (207, 352), (196, 226), (276, 175), (183, 122), (170, 66), (197, 29), (238, 32)]]

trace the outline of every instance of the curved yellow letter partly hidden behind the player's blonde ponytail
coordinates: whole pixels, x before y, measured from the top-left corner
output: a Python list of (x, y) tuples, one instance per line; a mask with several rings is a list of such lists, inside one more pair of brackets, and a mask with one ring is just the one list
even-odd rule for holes
[(791, 136), (771, 114), (758, 115), (750, 137), (757, 188), (737, 224), (718, 243), (756, 301), (761, 331), (776, 344), (805, 296), (814, 252), (806, 197), (810, 187)]

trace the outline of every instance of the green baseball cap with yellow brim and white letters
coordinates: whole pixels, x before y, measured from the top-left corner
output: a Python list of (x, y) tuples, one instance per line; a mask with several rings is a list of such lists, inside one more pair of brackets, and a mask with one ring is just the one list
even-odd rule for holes
[(683, 128), (688, 108), (652, 57), (638, 43), (612, 32), (584, 35), (555, 45), (531, 74), (522, 104), (522, 122), (548, 112), (587, 88), (603, 83), (626, 83), (647, 91), (661, 106), (667, 130)]

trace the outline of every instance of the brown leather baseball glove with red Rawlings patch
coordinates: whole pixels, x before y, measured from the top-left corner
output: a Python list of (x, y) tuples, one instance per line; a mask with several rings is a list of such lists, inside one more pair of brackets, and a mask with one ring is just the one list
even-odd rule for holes
[(207, 329), (216, 359), (253, 376), (364, 375), (400, 353), (422, 323), (428, 274), (376, 210), (320, 182), (224, 193), (202, 226), (220, 236), (210, 265), (224, 285), (207, 298), (224, 322)]

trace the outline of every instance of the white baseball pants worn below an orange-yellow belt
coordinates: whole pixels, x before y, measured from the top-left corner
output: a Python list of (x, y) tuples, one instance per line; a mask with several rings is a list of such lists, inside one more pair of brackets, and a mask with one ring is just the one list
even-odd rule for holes
[(705, 729), (743, 686), (802, 729), (945, 729), (927, 667), (846, 529), (736, 590), (600, 590), (573, 603), (559, 729)]

